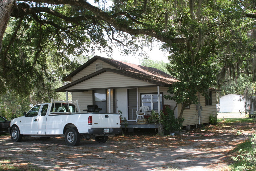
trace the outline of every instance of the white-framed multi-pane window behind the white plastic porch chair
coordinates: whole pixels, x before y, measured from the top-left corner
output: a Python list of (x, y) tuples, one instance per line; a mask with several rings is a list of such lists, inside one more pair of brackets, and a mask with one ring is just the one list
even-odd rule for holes
[[(163, 109), (163, 93), (160, 93), (160, 110)], [(148, 106), (149, 110), (158, 111), (158, 96), (154, 94), (141, 94), (141, 106)]]

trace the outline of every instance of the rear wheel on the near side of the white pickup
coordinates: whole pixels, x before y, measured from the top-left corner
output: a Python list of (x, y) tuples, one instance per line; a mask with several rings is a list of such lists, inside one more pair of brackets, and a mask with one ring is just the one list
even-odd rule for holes
[(80, 142), (80, 134), (77, 128), (68, 128), (65, 133), (65, 141), (68, 146), (77, 146)]

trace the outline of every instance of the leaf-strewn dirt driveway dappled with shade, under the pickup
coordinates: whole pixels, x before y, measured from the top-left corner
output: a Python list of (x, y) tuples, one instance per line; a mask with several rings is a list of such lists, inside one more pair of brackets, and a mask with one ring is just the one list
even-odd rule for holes
[[(251, 134), (255, 123), (208, 125), (179, 136), (156, 136), (137, 130), (110, 137), (104, 144), (81, 140), (68, 147), (64, 138), (25, 137), (12, 142), (0, 136), (0, 168), (6, 170), (225, 170), (232, 162), (231, 150), (247, 137), (236, 136), (232, 128)], [(142, 133), (143, 131), (143, 133)], [(8, 169), (8, 167), (14, 169)], [(1, 170), (1, 169), (0, 169)], [(3, 169), (4, 170), (4, 169)]]

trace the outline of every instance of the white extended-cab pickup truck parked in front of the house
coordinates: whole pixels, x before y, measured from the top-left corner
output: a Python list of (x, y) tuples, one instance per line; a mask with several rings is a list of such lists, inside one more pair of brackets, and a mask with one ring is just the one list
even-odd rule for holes
[(11, 120), (9, 134), (14, 142), (23, 136), (65, 136), (68, 146), (76, 146), (80, 139), (91, 137), (105, 143), (108, 136), (119, 134), (120, 115), (114, 113), (80, 113), (77, 102), (51, 101), (32, 107), (24, 116)]

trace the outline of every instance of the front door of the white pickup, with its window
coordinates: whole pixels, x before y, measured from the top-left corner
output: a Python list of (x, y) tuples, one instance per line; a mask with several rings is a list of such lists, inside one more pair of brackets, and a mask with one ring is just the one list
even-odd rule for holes
[(41, 105), (32, 107), (25, 117), (21, 120), (22, 134), (37, 135), (38, 132), (38, 118), (41, 112)]

